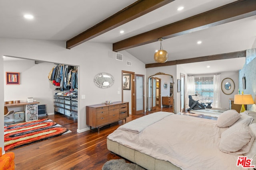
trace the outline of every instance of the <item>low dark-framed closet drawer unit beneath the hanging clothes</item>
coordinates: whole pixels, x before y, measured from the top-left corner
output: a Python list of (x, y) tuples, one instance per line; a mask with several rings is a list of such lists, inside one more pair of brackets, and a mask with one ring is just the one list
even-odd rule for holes
[(54, 113), (61, 113), (77, 119), (78, 100), (75, 96), (54, 95)]

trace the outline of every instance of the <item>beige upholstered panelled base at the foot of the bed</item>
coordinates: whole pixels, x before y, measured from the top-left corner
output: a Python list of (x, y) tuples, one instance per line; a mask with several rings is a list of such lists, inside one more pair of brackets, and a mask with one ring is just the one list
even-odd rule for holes
[(111, 152), (114, 152), (147, 170), (181, 170), (179, 167), (168, 161), (155, 159), (109, 139), (107, 139), (107, 147)]

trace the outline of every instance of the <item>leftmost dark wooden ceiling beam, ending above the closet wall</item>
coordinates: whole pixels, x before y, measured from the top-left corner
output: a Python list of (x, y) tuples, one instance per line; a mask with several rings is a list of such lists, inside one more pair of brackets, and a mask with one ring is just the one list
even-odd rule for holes
[(66, 48), (71, 49), (76, 47), (81, 43), (106, 33), (111, 29), (132, 21), (173, 1), (174, 0), (138, 0), (130, 6), (127, 6), (116, 14), (110, 16), (106, 20), (101, 21), (79, 35), (76, 35), (72, 39), (69, 39), (66, 41)]

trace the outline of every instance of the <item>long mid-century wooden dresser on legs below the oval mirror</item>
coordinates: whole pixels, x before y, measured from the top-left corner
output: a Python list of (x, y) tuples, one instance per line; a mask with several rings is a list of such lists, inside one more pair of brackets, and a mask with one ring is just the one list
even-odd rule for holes
[(98, 128), (129, 117), (129, 102), (113, 102), (112, 104), (95, 104), (86, 106), (86, 124)]

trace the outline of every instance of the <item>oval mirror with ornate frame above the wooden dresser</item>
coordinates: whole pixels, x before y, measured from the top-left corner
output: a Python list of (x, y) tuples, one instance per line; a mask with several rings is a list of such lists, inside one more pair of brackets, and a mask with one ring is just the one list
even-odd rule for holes
[(114, 77), (106, 72), (101, 72), (94, 77), (94, 83), (99, 88), (109, 88), (114, 82)]

